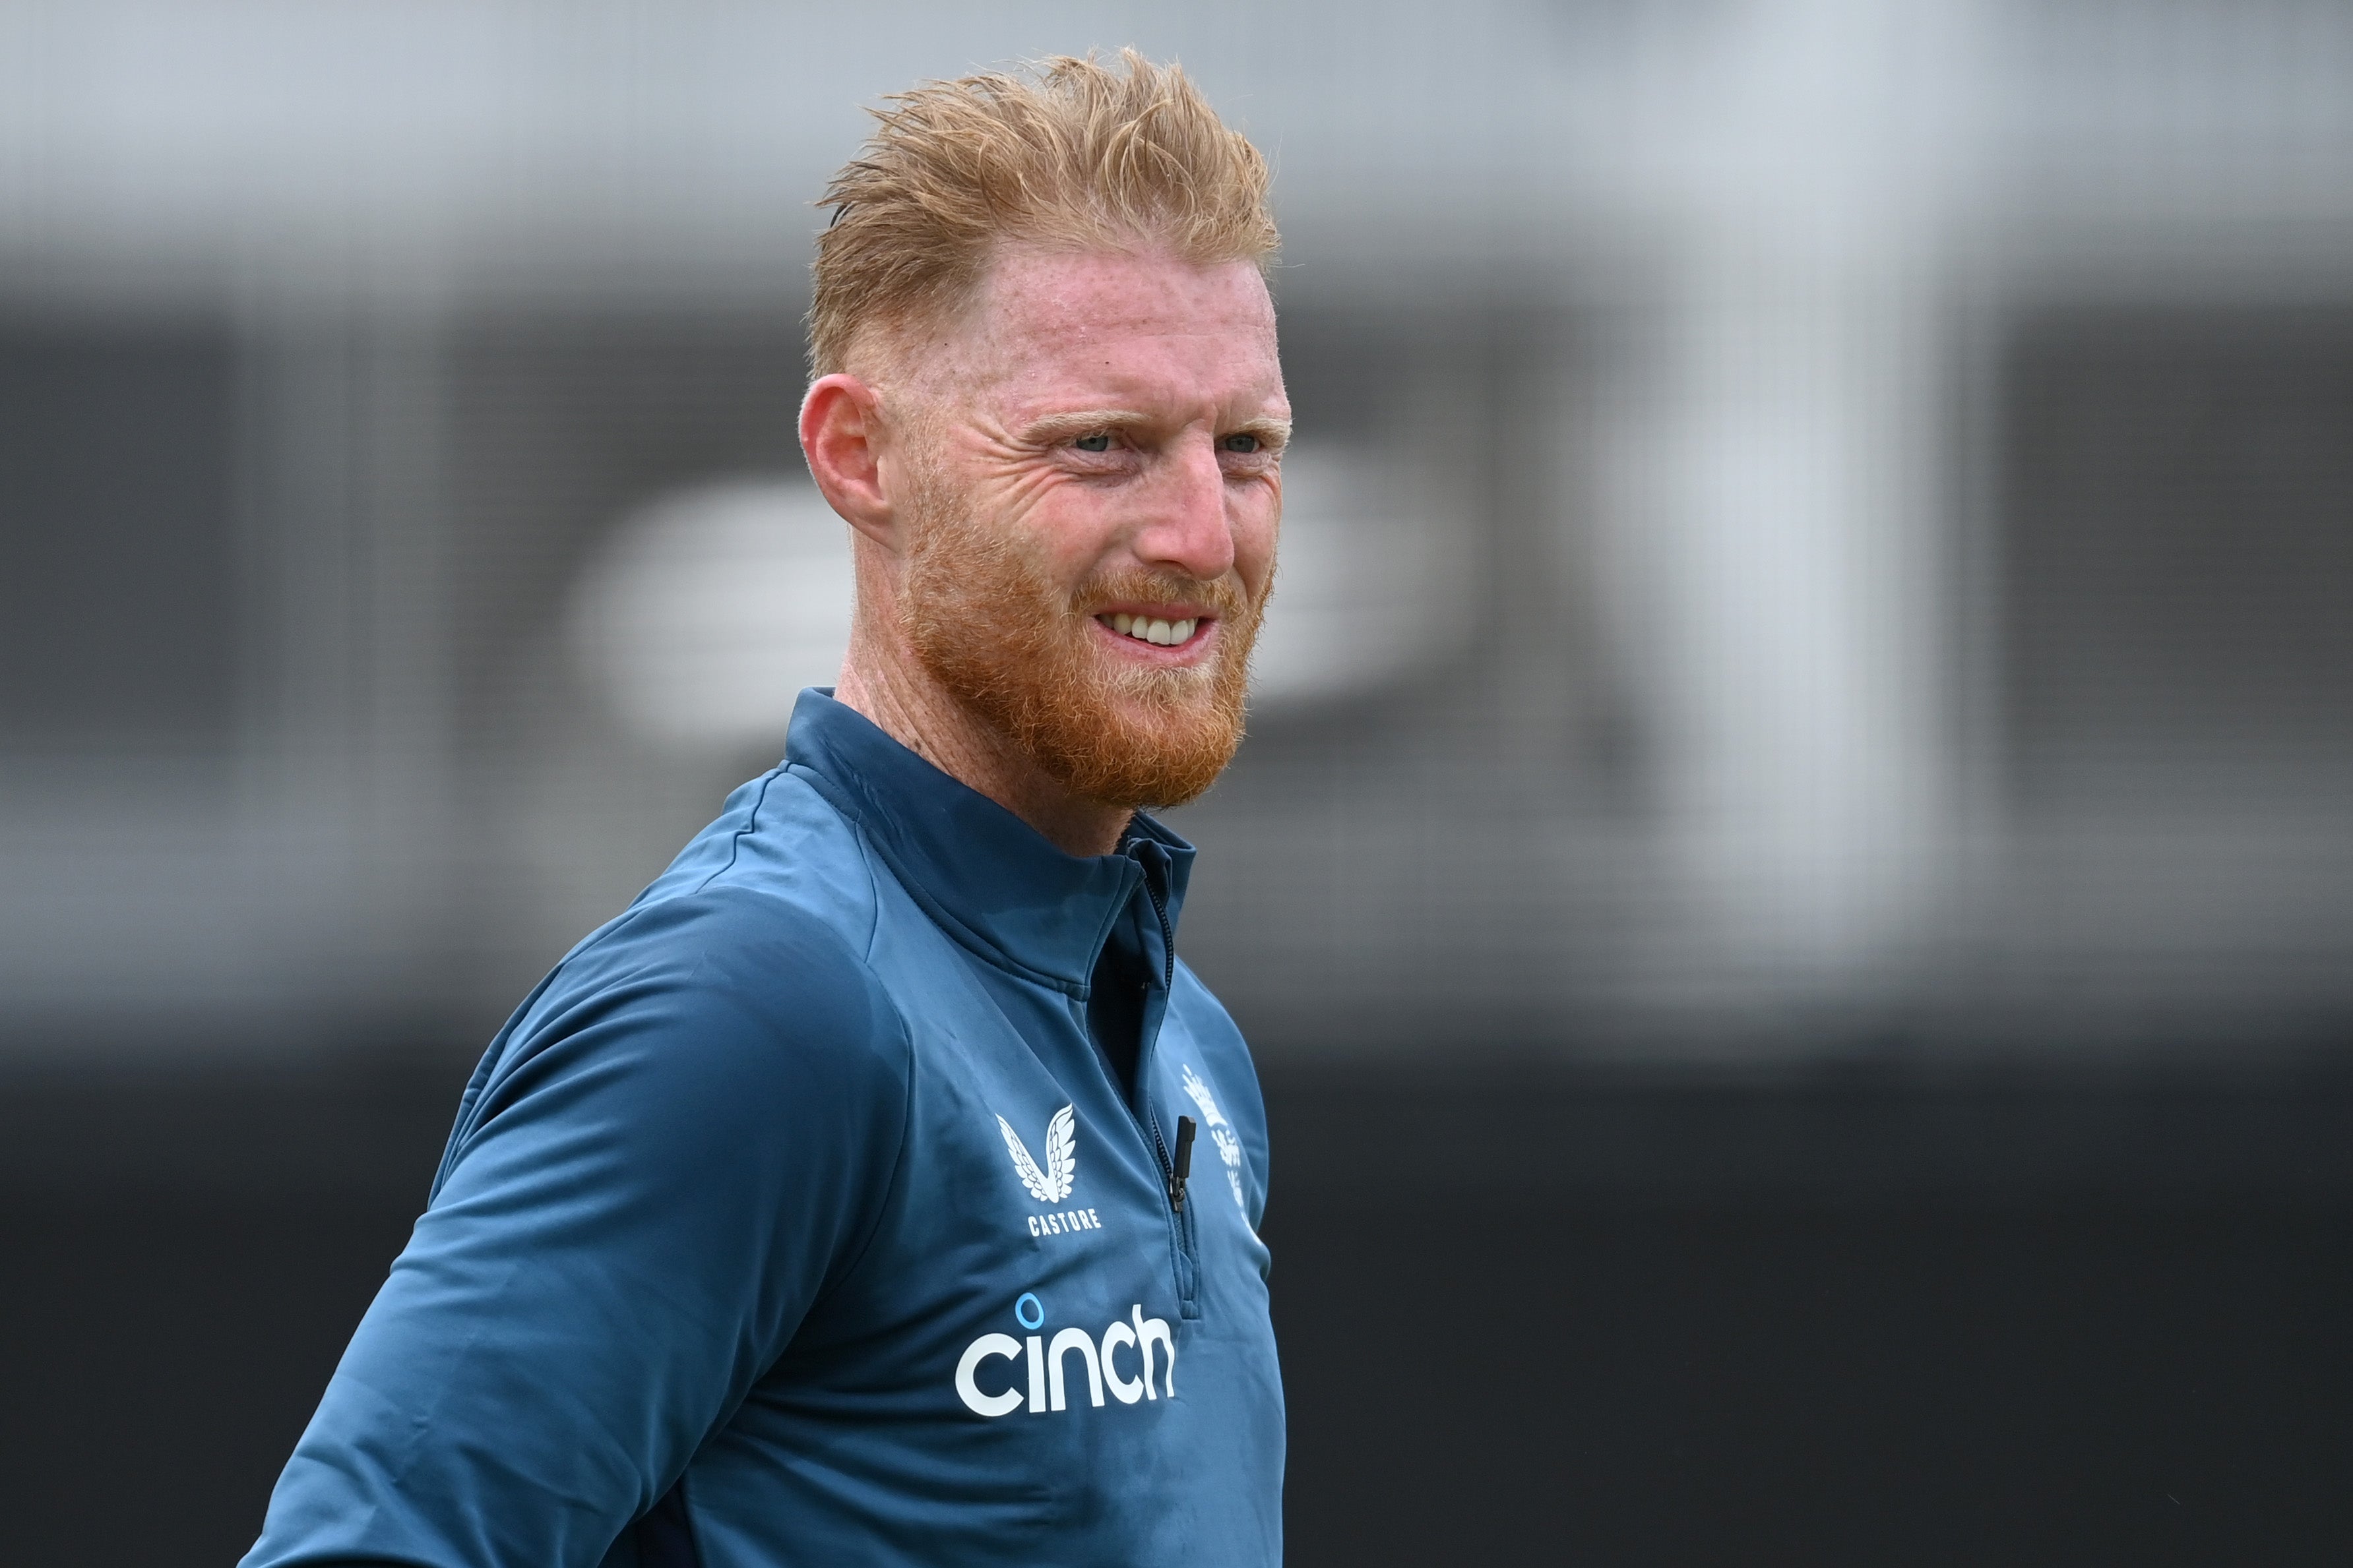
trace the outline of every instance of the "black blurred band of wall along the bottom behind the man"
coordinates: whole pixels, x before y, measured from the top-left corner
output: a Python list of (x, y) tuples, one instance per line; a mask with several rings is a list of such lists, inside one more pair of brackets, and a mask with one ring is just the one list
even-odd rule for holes
[[(226, 1563), (466, 1065), (0, 1105), (9, 1556)], [(1275, 1072), (1289, 1561), (2334, 1563), (2353, 1079)]]

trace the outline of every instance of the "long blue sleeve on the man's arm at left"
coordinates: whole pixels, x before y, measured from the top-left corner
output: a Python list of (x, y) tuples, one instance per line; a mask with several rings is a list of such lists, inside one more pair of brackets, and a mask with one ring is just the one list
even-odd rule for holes
[(494, 1041), (245, 1568), (593, 1568), (880, 1215), (906, 1037), (840, 936), (642, 905)]

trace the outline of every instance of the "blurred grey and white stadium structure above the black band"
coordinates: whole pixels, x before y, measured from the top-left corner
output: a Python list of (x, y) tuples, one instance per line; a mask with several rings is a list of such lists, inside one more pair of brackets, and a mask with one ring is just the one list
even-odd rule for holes
[(1268, 1048), (2353, 1011), (2353, 12), (896, 16), (0, 9), (14, 1025), (482, 1037), (828, 665), (859, 103), (1129, 38), (1280, 167), (1294, 550), (1181, 820)]

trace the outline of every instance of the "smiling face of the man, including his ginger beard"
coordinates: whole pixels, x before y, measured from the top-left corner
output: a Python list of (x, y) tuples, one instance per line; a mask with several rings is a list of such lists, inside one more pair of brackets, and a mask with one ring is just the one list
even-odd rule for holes
[(1242, 736), (1282, 515), (1257, 268), (1009, 249), (929, 350), (918, 658), (1075, 795), (1193, 799)]

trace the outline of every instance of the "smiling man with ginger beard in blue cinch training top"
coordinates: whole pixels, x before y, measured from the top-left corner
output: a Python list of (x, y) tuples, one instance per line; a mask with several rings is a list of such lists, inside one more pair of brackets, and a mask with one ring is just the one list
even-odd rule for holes
[(800, 418), (840, 686), (492, 1041), (247, 1568), (1280, 1561), (1264, 1107), (1139, 811), (1273, 578), (1266, 167), (1134, 54), (894, 103)]

